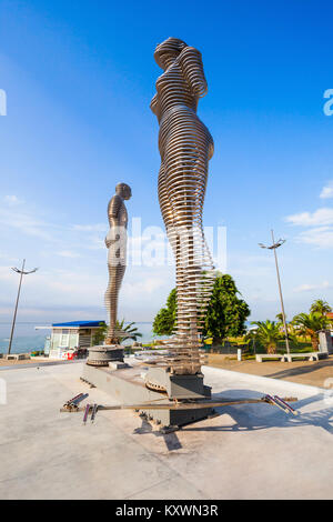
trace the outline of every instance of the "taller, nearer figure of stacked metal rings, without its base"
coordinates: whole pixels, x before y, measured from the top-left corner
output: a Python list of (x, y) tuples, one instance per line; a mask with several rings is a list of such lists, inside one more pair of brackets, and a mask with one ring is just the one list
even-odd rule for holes
[(172, 373), (200, 372), (199, 339), (214, 272), (205, 243), (202, 211), (213, 139), (196, 116), (208, 91), (201, 53), (176, 38), (154, 52), (163, 73), (151, 110), (160, 123), (159, 201), (175, 258), (176, 328), (167, 360)]

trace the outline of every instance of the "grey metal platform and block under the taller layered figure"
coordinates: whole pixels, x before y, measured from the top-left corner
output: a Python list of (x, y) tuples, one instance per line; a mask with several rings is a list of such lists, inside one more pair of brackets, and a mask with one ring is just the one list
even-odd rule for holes
[[(124, 369), (98, 368), (84, 364), (83, 380), (110, 394), (122, 404), (142, 404), (143, 402), (169, 403), (170, 399), (210, 399), (211, 389), (203, 384), (203, 375), (170, 375), (164, 369), (150, 368), (145, 375), (139, 364)], [(145, 382), (154, 381), (164, 385), (168, 391), (148, 388)], [(169, 395), (170, 393), (170, 395)], [(176, 428), (200, 421), (212, 414), (211, 408), (191, 410), (138, 410), (150, 421), (167, 428)]]

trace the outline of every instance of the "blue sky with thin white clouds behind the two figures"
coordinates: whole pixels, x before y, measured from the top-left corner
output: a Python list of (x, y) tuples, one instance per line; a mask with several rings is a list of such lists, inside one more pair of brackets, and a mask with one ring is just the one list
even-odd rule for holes
[[(209, 83), (199, 116), (215, 142), (204, 223), (226, 227), (228, 267), (252, 319), (280, 311), (280, 249), (291, 318), (333, 304), (332, 4), (327, 1), (9, 1), (0, 3), (0, 321), (103, 318), (105, 207), (119, 181), (131, 217), (162, 227), (158, 122), (149, 109), (172, 36), (200, 49)], [(131, 232), (131, 231), (130, 231)], [(129, 267), (120, 314), (153, 318), (172, 267)]]

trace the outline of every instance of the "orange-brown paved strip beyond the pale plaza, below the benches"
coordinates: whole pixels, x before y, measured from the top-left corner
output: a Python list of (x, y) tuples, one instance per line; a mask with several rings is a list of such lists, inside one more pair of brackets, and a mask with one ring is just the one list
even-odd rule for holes
[(238, 361), (235, 358), (230, 359), (218, 353), (210, 353), (208, 358), (209, 364), (215, 368), (270, 377), (272, 379), (282, 379), (284, 381), (299, 382), (300, 384), (310, 384), (312, 387), (330, 388), (327, 383), (325, 384), (325, 380), (333, 378), (333, 355), (313, 362)]

